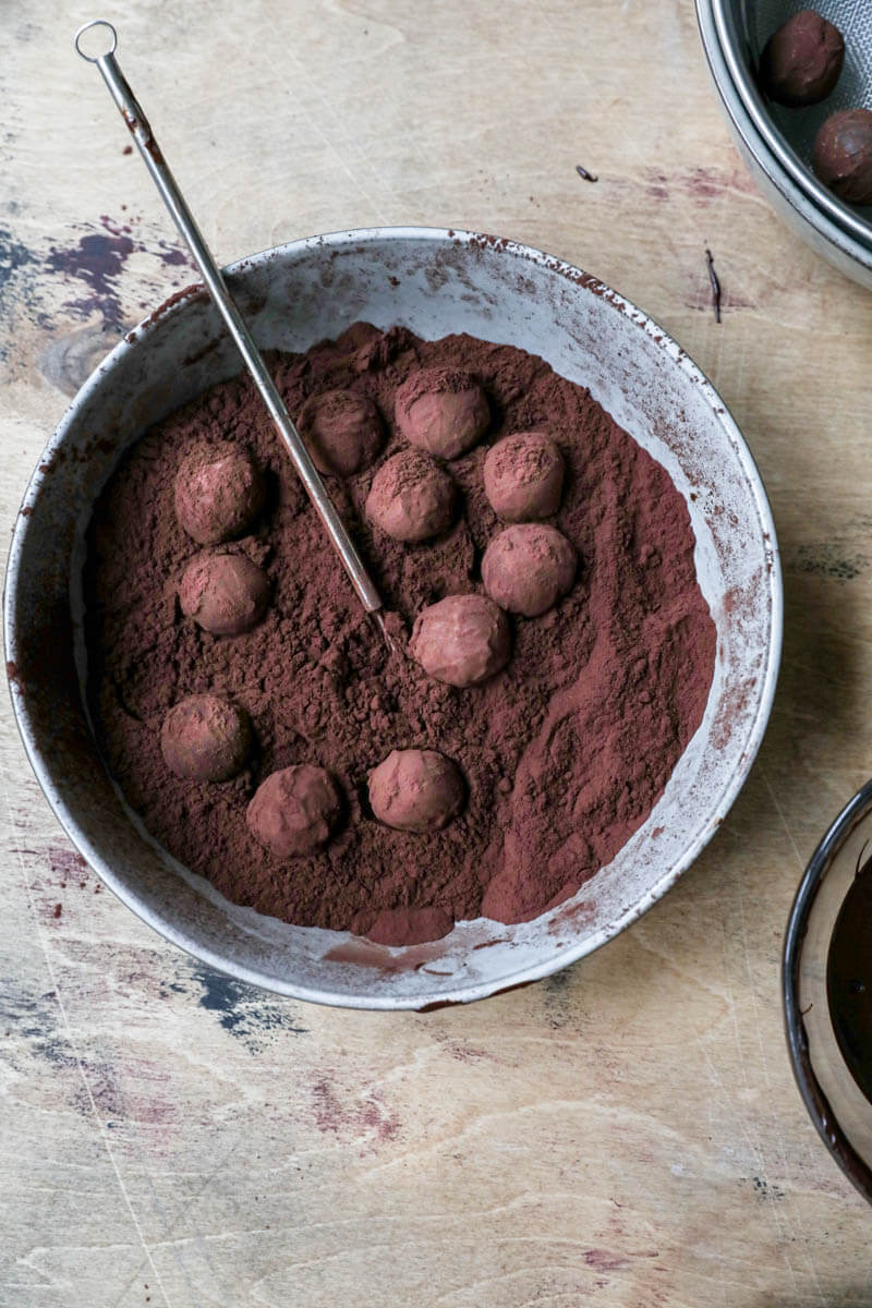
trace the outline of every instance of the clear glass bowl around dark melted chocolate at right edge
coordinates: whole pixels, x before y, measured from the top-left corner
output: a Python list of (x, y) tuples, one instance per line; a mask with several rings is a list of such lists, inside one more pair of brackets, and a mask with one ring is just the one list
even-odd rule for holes
[(787, 923), (782, 968), (796, 1084), (821, 1139), (869, 1203), (872, 1104), (854, 1080), (835, 1036), (826, 963), (839, 909), (871, 838), (872, 781), (845, 806), (805, 869)]

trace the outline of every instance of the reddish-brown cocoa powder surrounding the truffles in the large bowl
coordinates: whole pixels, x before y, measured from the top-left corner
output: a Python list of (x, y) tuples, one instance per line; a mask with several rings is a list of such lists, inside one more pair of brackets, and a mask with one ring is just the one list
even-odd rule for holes
[[(89, 695), (109, 765), (157, 840), (261, 913), (390, 944), (482, 914), (532, 918), (614, 857), (702, 719), (715, 627), (686, 505), (586, 390), (512, 347), (358, 323), (269, 364), (292, 415), (339, 386), (370, 396), (384, 419), (374, 467), (328, 484), (395, 630), (408, 634), (425, 604), (481, 589), (481, 555), (501, 526), (481, 466), (510, 432), (544, 429), (566, 459), (552, 521), (578, 551), (575, 585), (544, 616), (511, 619), (512, 654), (493, 680), (469, 689), (430, 680), (388, 654), (365, 617), (250, 382), (221, 383), (145, 434), (90, 527)], [(463, 502), (455, 526), (408, 545), (373, 528), (363, 502), (403, 445), (394, 394), (420, 366), (475, 373), (492, 426), (448, 464)], [(221, 548), (265, 568), (273, 599), (250, 633), (214, 637), (179, 611), (179, 578), (199, 547), (175, 519), (173, 483), (195, 445), (227, 439), (267, 470), (269, 501), (254, 534)], [(243, 705), (258, 738), (248, 769), (224, 783), (174, 777), (159, 748), (167, 709), (207, 691)], [(439, 749), (463, 770), (468, 803), (443, 831), (394, 831), (369, 812), (367, 773), (404, 747)], [(322, 852), (278, 861), (254, 840), (246, 807), (264, 777), (294, 763), (329, 769), (345, 812)]]

